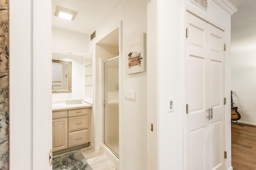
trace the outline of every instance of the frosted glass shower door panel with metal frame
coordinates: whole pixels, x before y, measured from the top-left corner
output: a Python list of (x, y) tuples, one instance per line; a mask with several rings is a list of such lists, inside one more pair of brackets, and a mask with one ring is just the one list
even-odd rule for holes
[(118, 57), (104, 61), (104, 144), (119, 155)]

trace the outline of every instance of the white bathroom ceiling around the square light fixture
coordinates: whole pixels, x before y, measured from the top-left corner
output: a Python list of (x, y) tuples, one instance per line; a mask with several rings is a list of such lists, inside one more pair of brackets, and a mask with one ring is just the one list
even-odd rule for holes
[[(52, 27), (92, 34), (122, 0), (52, 0)], [(78, 12), (73, 21), (54, 16), (56, 6)]]

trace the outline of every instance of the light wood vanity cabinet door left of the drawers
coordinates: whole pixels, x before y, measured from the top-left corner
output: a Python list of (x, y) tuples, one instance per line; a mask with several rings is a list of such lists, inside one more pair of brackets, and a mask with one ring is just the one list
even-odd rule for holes
[(68, 148), (68, 118), (52, 120), (52, 151)]

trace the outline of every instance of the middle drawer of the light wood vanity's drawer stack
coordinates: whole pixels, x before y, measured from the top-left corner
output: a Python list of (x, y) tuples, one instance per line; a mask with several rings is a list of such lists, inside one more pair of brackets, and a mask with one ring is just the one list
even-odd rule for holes
[(69, 117), (68, 132), (88, 128), (88, 115)]

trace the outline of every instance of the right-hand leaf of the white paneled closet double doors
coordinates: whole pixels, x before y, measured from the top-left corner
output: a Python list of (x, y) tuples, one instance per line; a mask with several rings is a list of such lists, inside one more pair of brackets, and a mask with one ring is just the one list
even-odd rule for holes
[[(207, 107), (212, 107), (212, 118), (209, 123), (211, 158), (207, 159), (207, 169), (224, 170), (224, 32), (208, 24), (208, 61), (210, 68), (207, 87)], [(209, 88), (209, 89), (208, 89)]]

